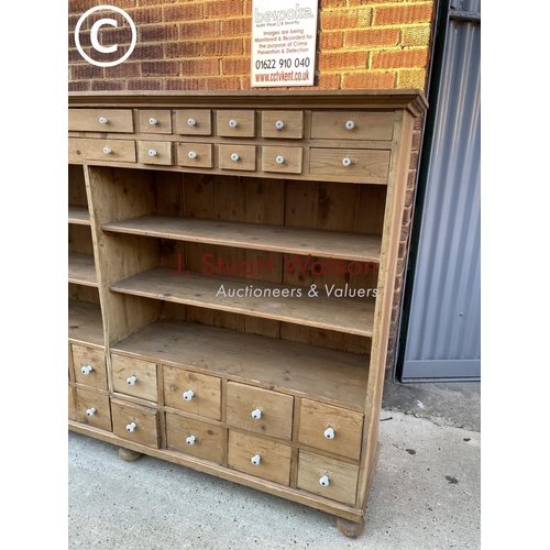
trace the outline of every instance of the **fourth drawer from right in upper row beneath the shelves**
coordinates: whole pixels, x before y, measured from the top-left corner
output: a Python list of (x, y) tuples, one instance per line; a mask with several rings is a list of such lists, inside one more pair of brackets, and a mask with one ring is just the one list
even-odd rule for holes
[(112, 354), (111, 366), (114, 392), (156, 403), (158, 392), (155, 363)]

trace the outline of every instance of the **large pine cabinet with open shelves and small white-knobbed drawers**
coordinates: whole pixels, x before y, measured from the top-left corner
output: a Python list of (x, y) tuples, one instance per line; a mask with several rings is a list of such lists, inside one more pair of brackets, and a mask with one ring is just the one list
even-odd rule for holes
[(69, 428), (359, 534), (424, 109), (415, 90), (72, 95)]

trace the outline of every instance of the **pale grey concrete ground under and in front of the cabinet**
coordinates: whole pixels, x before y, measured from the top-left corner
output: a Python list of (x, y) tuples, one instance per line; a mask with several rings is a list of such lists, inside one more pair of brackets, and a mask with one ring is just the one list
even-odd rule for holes
[[(476, 408), (474, 399), (463, 410)], [(69, 432), (68, 548), (481, 548), (480, 432), (410, 413), (382, 411), (381, 457), (356, 539), (326, 513), (150, 457), (124, 462), (117, 447)]]

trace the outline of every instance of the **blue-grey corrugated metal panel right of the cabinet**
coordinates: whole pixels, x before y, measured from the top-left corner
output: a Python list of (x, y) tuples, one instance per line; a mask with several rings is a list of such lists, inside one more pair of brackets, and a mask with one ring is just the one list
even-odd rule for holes
[(441, 16), (444, 44), (440, 74), (432, 75), (436, 111), (407, 277), (403, 382), (481, 374), (481, 1), (451, 0)]

